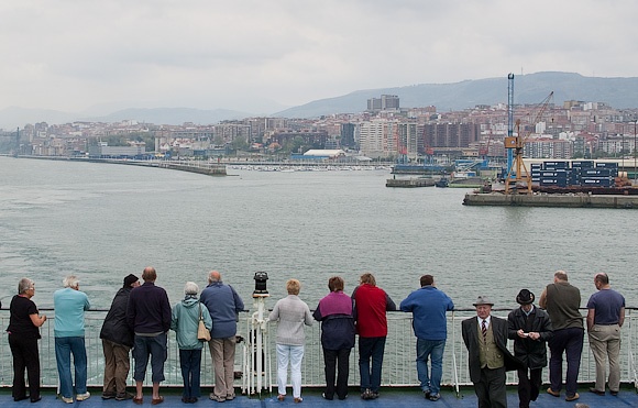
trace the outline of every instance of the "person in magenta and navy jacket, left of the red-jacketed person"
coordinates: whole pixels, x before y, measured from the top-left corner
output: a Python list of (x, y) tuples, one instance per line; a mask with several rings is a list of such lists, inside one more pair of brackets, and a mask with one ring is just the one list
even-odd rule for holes
[[(328, 279), (330, 294), (319, 301), (312, 313), (321, 322), (321, 345), (326, 364), (326, 393), (323, 398), (339, 399), (348, 396), (348, 372), (350, 351), (354, 346), (354, 307), (352, 298), (343, 293), (343, 279), (332, 276)], [(334, 388), (336, 368), (339, 368)]]

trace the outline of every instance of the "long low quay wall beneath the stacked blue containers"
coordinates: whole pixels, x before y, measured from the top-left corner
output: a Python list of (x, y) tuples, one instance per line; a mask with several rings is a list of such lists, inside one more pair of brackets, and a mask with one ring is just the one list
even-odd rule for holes
[(588, 194), (506, 195), (503, 192), (471, 192), (465, 195), (463, 205), (638, 209), (638, 196)]

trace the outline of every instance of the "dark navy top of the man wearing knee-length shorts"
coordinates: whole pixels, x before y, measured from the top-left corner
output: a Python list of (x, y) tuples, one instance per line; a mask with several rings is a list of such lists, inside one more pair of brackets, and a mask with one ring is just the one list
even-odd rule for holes
[(170, 304), (166, 290), (151, 282), (131, 290), (127, 322), (135, 333), (162, 333), (170, 329)]

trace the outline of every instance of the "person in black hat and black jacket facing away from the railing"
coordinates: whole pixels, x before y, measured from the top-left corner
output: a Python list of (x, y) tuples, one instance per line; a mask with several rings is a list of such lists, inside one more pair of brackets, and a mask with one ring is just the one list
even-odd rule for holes
[[(534, 307), (534, 294), (520, 290), (516, 301), (520, 308), (507, 317), (507, 337), (514, 340), (514, 355), (525, 365), (518, 370), (518, 400), (520, 408), (538, 397), (542, 367), (547, 366), (547, 341), (553, 335), (549, 315)], [(529, 373), (529, 375), (528, 375)]]

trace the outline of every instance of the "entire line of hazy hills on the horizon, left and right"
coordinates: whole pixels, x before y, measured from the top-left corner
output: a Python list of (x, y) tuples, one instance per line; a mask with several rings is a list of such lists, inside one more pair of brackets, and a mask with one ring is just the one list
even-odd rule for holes
[[(597, 78), (571, 73), (538, 73), (516, 76), (515, 103), (539, 103), (550, 91), (553, 102), (565, 100), (605, 102), (614, 108), (638, 108), (638, 77)], [(382, 93), (397, 95), (400, 106), (407, 108), (435, 106), (439, 112), (474, 108), (476, 104), (507, 102), (507, 75), (499, 78), (464, 80), (455, 84), (421, 84), (398, 88), (358, 90), (341, 97), (316, 100), (286, 109), (271, 117), (318, 118), (332, 113), (355, 113), (367, 108), (367, 99)], [(275, 108), (276, 109), (276, 108)], [(280, 108), (279, 108), (280, 109)], [(272, 111), (271, 111), (272, 112)], [(191, 108), (130, 108), (106, 115), (61, 112), (55, 110), (7, 108), (0, 110), (0, 129), (12, 130), (26, 123), (68, 123), (74, 121), (119, 122), (135, 120), (154, 124), (213, 124), (222, 120), (255, 115), (226, 109), (200, 110)]]

